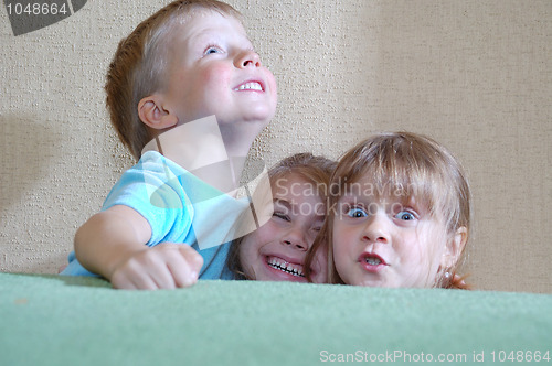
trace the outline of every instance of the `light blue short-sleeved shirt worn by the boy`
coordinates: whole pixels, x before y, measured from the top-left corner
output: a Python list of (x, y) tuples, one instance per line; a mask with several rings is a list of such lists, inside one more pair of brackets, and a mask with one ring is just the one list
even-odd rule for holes
[[(102, 211), (128, 206), (142, 215), (151, 227), (152, 247), (159, 243), (182, 243), (203, 257), (200, 279), (231, 279), (226, 258), (231, 230), (247, 200), (233, 198), (201, 181), (157, 151), (146, 152), (112, 189)], [(201, 238), (198, 243), (198, 237)], [(225, 241), (224, 241), (225, 240)], [(61, 274), (97, 276), (70, 254)]]

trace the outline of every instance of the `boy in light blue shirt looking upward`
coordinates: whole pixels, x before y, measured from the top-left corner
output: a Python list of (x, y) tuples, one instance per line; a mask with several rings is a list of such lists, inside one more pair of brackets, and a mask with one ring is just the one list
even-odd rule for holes
[[(120, 42), (107, 75), (107, 106), (120, 140), (140, 160), (77, 230), (78, 261), (72, 255), (63, 274), (97, 273), (124, 289), (187, 287), (222, 276), (227, 245), (201, 256), (190, 247), (199, 248), (194, 232), (216, 209), (201, 214), (190, 202), (215, 197), (216, 207), (232, 205), (224, 194), (201, 196), (236, 187), (225, 182), (240, 177), (243, 157), (276, 109), (276, 82), (240, 17), (214, 0), (174, 1)], [(216, 169), (224, 158), (230, 165)], [(209, 164), (214, 168), (200, 169)]]

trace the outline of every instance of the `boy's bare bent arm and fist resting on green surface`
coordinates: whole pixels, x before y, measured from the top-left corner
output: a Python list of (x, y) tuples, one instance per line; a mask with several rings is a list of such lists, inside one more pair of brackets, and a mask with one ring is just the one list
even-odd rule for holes
[(92, 216), (75, 235), (75, 255), (119, 289), (173, 289), (195, 283), (203, 258), (188, 245), (146, 246), (149, 223), (118, 205)]

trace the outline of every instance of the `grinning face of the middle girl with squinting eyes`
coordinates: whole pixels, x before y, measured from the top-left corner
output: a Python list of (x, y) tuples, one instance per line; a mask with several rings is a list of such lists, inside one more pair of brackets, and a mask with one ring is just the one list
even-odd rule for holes
[[(276, 180), (273, 198), (272, 218), (240, 246), (243, 270), (259, 281), (307, 282), (305, 257), (323, 224), (326, 206), (316, 185), (296, 173)], [(318, 250), (311, 266), (311, 279), (319, 283), (327, 281), (322, 251)]]

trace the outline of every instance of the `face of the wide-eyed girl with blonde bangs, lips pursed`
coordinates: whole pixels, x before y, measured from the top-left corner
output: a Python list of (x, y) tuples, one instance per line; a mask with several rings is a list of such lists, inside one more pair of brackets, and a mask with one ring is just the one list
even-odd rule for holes
[(333, 259), (348, 284), (423, 288), (444, 259), (445, 225), (411, 200), (344, 194), (333, 219)]

